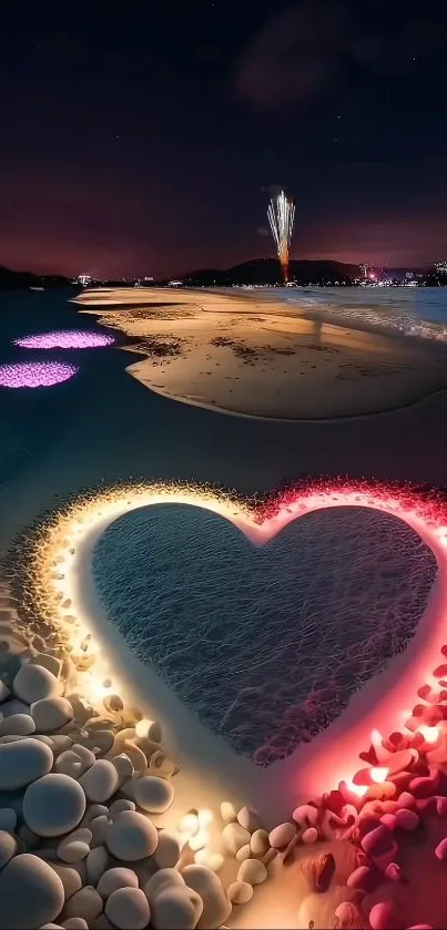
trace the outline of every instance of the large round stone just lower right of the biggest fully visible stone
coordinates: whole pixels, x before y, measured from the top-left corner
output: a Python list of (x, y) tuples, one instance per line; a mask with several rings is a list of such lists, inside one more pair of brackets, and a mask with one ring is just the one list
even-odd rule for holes
[(116, 859), (136, 862), (155, 852), (159, 835), (149, 817), (123, 810), (105, 831), (105, 846)]

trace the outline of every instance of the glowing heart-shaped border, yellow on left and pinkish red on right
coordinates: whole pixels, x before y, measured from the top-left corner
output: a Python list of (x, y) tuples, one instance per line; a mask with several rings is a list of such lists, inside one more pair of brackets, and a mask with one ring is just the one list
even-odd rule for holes
[[(45, 554), (42, 558), (41, 551), (37, 553), (37, 593), (43, 599), (47, 609), (51, 609), (60, 630), (67, 632), (63, 612), (67, 614), (70, 611), (75, 616), (78, 637), (85, 642), (85, 637), (95, 632), (104, 645), (105, 640), (109, 642), (113, 631), (106, 619), (105, 625), (104, 619), (100, 620), (101, 611), (94, 597), (92, 549), (106, 527), (123, 513), (165, 502), (189, 503), (212, 510), (235, 524), (255, 545), (266, 544), (289, 522), (316, 510), (366, 507), (402, 519), (426, 542), (436, 558), (438, 578), (405, 652), (394, 658), (388, 668), (370, 679), (326, 730), (307, 746), (298, 746), (284, 762), (273, 763), (268, 769), (254, 771), (252, 763), (236, 756), (226, 744), (222, 745), (223, 740), (213, 737), (199, 722), (193, 721), (191, 712), (159, 681), (160, 687), (155, 688), (156, 694), (153, 695), (154, 705), (159, 719), (167, 726), (167, 730), (170, 718), (175, 718), (175, 735), (171, 735), (169, 742), (174, 744), (180, 756), (186, 757), (190, 764), (193, 760), (196, 766), (203, 765), (200, 749), (192, 750), (191, 743), (196, 742), (199, 747), (203, 742), (211, 744), (212, 753), (207, 753), (206, 765), (217, 783), (222, 781), (224, 771), (227, 790), (230, 785), (230, 790), (233, 788), (244, 799), (250, 796), (253, 803), (264, 809), (265, 799), (268, 799), (270, 819), (287, 813), (289, 815), (291, 806), (296, 803), (322, 794), (342, 779), (354, 777), (359, 767), (359, 752), (369, 746), (372, 730), (389, 734), (402, 729), (417, 699), (418, 686), (434, 684), (431, 672), (441, 661), (446, 625), (447, 509), (439, 498), (427, 498), (413, 489), (339, 481), (313, 483), (285, 491), (262, 505), (244, 504), (203, 488), (142, 484), (102, 491), (98, 495), (77, 501), (69, 511), (57, 517), (47, 531), (47, 544), (43, 546)], [(75, 555), (69, 558), (73, 545)], [(51, 580), (49, 569), (52, 566), (54, 571), (54, 555), (63, 559), (63, 582)], [(63, 604), (69, 606), (63, 607)], [(73, 643), (73, 626), (70, 628), (70, 641)], [(122, 642), (116, 643), (121, 650)], [(126, 663), (128, 660), (129, 655)], [(132, 668), (133, 673), (136, 674), (135, 667)], [(397, 682), (393, 681), (396, 677)], [(187, 746), (184, 745), (185, 738)], [(213, 758), (210, 760), (211, 755)]]

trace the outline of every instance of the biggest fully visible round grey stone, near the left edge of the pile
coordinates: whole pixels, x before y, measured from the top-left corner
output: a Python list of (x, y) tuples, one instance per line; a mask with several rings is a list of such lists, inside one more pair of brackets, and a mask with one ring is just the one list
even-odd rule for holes
[(84, 811), (85, 795), (68, 775), (44, 775), (24, 793), (23, 818), (38, 836), (68, 834), (78, 826)]

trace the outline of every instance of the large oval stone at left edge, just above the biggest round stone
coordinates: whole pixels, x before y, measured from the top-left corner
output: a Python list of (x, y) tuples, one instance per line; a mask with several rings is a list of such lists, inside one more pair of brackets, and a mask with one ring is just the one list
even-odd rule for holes
[(0, 746), (0, 791), (24, 788), (50, 771), (53, 754), (37, 739), (20, 739)]

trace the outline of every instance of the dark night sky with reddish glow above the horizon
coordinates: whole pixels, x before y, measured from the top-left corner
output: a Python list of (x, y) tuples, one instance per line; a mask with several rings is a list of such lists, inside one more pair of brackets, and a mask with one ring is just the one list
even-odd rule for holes
[[(171, 275), (273, 255), (447, 257), (447, 4), (7, 4), (0, 264)], [(16, 11), (11, 11), (16, 7)]]

